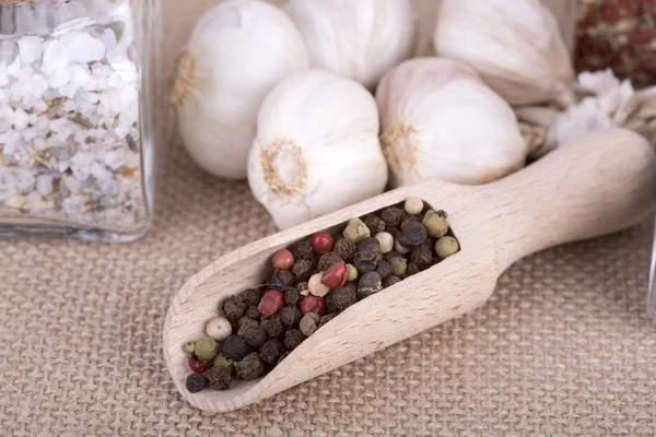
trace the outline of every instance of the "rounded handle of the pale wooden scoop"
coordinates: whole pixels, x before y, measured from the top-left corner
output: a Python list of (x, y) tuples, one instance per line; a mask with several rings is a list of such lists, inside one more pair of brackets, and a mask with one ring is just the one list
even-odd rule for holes
[(606, 130), (481, 189), (501, 205), (504, 271), (548, 247), (640, 223), (656, 202), (656, 153), (637, 133)]

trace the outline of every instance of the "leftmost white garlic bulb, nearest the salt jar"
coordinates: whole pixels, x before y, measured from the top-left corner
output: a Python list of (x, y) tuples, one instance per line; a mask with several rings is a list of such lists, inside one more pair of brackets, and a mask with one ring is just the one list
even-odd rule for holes
[(230, 0), (209, 10), (181, 55), (171, 96), (189, 155), (215, 176), (246, 177), (260, 104), (308, 66), (301, 34), (277, 7)]

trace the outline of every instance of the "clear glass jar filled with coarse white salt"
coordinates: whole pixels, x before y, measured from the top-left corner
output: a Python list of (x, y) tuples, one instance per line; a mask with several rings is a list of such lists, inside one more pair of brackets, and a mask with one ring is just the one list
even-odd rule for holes
[(0, 0), (0, 236), (145, 233), (160, 16), (159, 0)]

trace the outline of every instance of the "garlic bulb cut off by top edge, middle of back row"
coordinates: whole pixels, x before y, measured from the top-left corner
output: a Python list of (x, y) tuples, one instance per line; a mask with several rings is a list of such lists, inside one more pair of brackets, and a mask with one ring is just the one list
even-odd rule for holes
[(408, 0), (291, 0), (285, 10), (305, 38), (312, 67), (370, 90), (412, 52)]

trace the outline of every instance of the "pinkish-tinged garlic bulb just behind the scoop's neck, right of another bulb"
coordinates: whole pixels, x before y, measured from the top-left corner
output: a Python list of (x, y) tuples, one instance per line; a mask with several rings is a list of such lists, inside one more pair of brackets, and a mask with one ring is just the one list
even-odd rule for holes
[(394, 187), (426, 177), (484, 184), (525, 164), (515, 114), (460, 62), (406, 61), (383, 78), (376, 102)]

